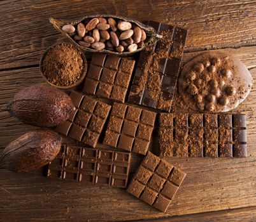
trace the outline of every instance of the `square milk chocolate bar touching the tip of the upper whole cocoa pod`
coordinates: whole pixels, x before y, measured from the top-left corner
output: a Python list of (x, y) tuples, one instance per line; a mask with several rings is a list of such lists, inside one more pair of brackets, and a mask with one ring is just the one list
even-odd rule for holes
[(55, 130), (91, 147), (96, 147), (111, 105), (75, 91), (71, 92), (70, 98), (76, 109), (69, 116), (68, 121), (57, 126)]

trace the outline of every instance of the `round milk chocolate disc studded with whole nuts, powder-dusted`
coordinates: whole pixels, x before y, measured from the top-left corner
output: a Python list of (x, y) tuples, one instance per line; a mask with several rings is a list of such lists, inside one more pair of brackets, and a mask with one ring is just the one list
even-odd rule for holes
[(252, 84), (252, 75), (240, 60), (207, 52), (184, 65), (178, 89), (193, 110), (227, 112), (245, 100)]

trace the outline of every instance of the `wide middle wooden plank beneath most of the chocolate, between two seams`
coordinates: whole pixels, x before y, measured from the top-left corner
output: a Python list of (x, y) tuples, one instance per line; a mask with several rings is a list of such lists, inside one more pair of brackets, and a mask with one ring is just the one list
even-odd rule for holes
[[(253, 78), (256, 77), (256, 46), (219, 51), (232, 53), (241, 59)], [(185, 53), (183, 62), (199, 53)], [(6, 102), (18, 90), (42, 80), (38, 67), (2, 71), (0, 76), (0, 147), (3, 148), (20, 134), (34, 128), (22, 124), (4, 111)], [(167, 214), (153, 209), (122, 189), (47, 180), (41, 171), (21, 174), (1, 169), (0, 221), (122, 221), (255, 206), (255, 98), (253, 87), (245, 102), (236, 109), (248, 114), (247, 158), (166, 159), (187, 173)], [(152, 151), (157, 152), (157, 149), (157, 138), (154, 138)], [(141, 159), (139, 155), (132, 155), (131, 172), (136, 170)]]

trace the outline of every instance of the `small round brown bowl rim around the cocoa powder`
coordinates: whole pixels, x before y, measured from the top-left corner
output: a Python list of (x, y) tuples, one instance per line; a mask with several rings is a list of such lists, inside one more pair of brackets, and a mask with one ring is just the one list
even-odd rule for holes
[[(71, 46), (75, 47), (78, 51), (80, 51), (80, 53), (82, 54), (82, 58), (83, 58), (83, 72), (82, 72), (82, 75), (80, 76), (80, 78), (78, 79), (78, 81), (74, 82), (73, 84), (69, 85), (69, 86), (57, 86), (55, 84), (53, 84), (52, 82), (48, 81), (48, 79), (45, 77), (45, 75), (43, 74), (43, 68), (42, 68), (42, 63), (43, 63), (43, 60), (45, 58), (45, 55), (46, 53), (48, 53), (48, 51), (50, 49), (52, 49), (53, 47), (59, 45), (59, 44), (70, 44)], [(86, 60), (86, 57), (85, 57), (85, 54), (83, 53), (83, 51), (76, 47), (74, 44), (72, 44), (71, 42), (57, 42), (55, 44), (53, 44), (52, 46), (50, 46), (48, 49), (46, 49), (44, 52), (43, 52), (43, 55), (41, 56), (40, 58), (40, 63), (39, 63), (39, 69), (40, 69), (40, 72), (41, 72), (41, 76), (43, 77), (43, 79), (48, 83), (50, 84), (51, 86), (54, 86), (55, 88), (59, 88), (59, 89), (70, 89), (70, 88), (73, 88), (75, 86), (78, 86), (82, 81), (83, 79), (85, 79), (85, 75), (87, 73), (87, 60)]]

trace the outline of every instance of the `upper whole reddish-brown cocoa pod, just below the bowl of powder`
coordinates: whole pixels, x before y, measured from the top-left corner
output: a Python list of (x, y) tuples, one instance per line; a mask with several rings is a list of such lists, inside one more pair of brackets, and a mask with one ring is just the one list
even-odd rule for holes
[(75, 109), (69, 96), (48, 85), (22, 89), (8, 103), (7, 110), (22, 122), (39, 127), (52, 127), (66, 121)]

